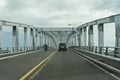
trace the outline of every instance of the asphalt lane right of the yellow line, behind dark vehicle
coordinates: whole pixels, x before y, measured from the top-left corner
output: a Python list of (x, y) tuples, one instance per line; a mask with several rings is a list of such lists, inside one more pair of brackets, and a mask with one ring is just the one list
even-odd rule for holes
[(78, 54), (59, 52), (33, 80), (117, 80)]

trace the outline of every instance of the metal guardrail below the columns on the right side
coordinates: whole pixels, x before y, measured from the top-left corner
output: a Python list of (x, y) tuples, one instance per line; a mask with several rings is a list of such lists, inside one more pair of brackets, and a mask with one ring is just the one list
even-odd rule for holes
[(89, 52), (113, 55), (114, 57), (117, 57), (117, 54), (120, 53), (120, 48), (117, 47), (79, 46), (79, 48)]

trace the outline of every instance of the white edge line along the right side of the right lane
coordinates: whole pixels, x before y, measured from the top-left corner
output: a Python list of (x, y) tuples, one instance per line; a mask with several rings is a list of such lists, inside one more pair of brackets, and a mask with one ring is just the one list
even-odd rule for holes
[[(75, 52), (77, 52), (78, 54), (81, 54), (81, 53), (78, 52), (78, 51), (75, 51)], [(84, 55), (84, 54), (81, 54), (81, 55)], [(84, 55), (84, 56), (86, 56), (86, 55)], [(97, 64), (95, 64), (95, 63), (93, 63), (92, 61), (88, 60), (87, 58), (85, 58), (85, 57), (83, 57), (83, 56), (81, 56), (81, 57), (82, 57), (84, 60), (88, 61), (89, 63), (91, 63), (91, 64), (95, 65), (96, 67), (98, 67), (100, 70), (102, 70), (102, 71), (104, 71), (105, 73), (109, 74), (110, 76), (114, 77), (115, 79), (120, 80), (120, 78), (117, 77), (116, 75), (108, 72), (107, 70), (105, 70), (104, 68), (98, 66)], [(88, 57), (88, 56), (86, 56), (86, 57)]]

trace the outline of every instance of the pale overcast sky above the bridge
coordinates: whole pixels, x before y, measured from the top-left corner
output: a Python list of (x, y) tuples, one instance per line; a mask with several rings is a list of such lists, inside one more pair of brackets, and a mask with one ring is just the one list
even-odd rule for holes
[(0, 0), (0, 19), (39, 26), (81, 25), (120, 13), (120, 0)]

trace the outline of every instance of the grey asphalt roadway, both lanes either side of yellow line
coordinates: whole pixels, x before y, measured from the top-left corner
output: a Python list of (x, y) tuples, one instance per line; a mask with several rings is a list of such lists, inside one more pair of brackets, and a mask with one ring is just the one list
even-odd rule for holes
[[(0, 60), (0, 80), (19, 80), (53, 51), (40, 51)], [(41, 69), (40, 69), (41, 68)], [(25, 80), (118, 80), (71, 49), (58, 52)], [(24, 79), (23, 79), (24, 80)]]

